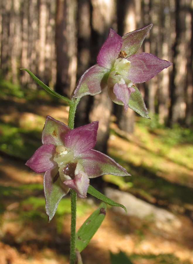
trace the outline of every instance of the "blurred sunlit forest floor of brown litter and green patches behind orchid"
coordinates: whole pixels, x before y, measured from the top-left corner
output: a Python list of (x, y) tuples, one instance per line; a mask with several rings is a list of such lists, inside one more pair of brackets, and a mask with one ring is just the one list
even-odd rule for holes
[[(2, 85), (2, 84), (1, 84)], [(68, 264), (70, 199), (59, 203), (50, 223), (43, 175), (25, 166), (41, 145), (46, 115), (64, 123), (68, 106), (44, 92), (3, 85), (0, 92), (0, 263)], [(156, 119), (136, 123), (134, 134), (111, 124), (108, 154), (132, 177), (105, 175), (104, 187), (131, 193), (172, 213), (177, 223), (158, 225), (107, 208), (102, 225), (81, 253), (84, 264), (110, 264), (110, 252), (125, 252), (133, 264), (193, 263), (192, 131), (160, 127)], [(78, 199), (77, 229), (98, 207)]]

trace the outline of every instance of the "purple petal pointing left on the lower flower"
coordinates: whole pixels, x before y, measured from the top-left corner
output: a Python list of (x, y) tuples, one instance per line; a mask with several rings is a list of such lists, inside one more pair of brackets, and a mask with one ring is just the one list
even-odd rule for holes
[(56, 147), (54, 145), (43, 145), (35, 151), (25, 165), (37, 173), (45, 172), (56, 165), (53, 160), (54, 153), (56, 153)]

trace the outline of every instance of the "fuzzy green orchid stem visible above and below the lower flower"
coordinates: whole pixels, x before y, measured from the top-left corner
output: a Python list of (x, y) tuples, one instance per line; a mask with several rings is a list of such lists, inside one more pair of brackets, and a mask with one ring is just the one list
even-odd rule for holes
[[(74, 117), (76, 112), (76, 107), (80, 99), (72, 98), (69, 102), (69, 116), (68, 116), (68, 125), (71, 129), (74, 128)], [(76, 260), (76, 192), (70, 190), (71, 195), (71, 236), (70, 236), (70, 264), (74, 264)]]

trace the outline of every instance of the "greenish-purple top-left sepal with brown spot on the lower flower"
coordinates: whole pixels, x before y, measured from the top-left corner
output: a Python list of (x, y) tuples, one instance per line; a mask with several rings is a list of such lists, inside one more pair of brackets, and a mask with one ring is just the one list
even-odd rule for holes
[(42, 132), (42, 143), (64, 145), (64, 136), (70, 130), (69, 126), (51, 116), (47, 116)]

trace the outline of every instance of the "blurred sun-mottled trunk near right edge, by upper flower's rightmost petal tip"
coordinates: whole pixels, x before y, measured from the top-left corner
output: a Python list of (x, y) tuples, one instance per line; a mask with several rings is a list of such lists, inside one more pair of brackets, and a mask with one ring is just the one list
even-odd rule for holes
[(173, 71), (170, 84), (169, 125), (182, 122), (185, 118), (185, 84), (187, 67), (186, 12), (185, 1), (175, 1), (175, 32), (173, 49)]

